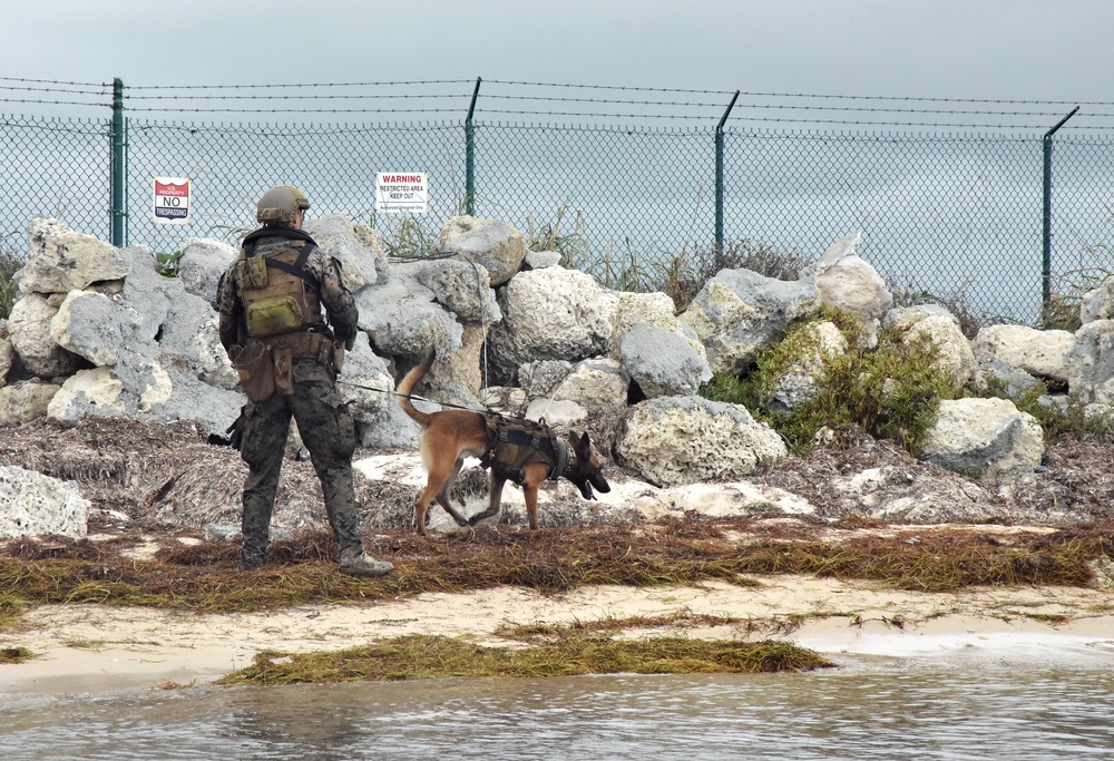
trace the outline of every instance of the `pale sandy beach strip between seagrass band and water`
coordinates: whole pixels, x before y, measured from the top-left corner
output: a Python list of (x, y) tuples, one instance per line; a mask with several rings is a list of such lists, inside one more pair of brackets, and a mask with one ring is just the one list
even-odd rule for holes
[[(374, 605), (306, 605), (267, 613), (201, 615), (141, 607), (47, 605), (27, 627), (0, 635), (2, 647), (39, 657), (0, 666), (0, 693), (72, 694), (203, 685), (266, 650), (331, 651), (404, 634), (469, 637), (507, 645), (502, 624), (568, 624), (677, 613), (745, 623), (670, 627), (719, 640), (790, 640), (840, 657), (964, 657), (1114, 665), (1114, 591), (994, 587), (911, 593), (868, 582), (769, 576), (759, 587), (602, 586), (561, 595), (497, 587), (422, 594)], [(665, 628), (631, 630), (652, 636)]]

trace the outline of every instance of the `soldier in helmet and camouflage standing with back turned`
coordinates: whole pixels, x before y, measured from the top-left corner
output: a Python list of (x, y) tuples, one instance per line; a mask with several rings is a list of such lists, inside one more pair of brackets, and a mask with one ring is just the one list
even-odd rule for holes
[(233, 436), (250, 468), (240, 568), (263, 565), (293, 416), (321, 480), (340, 570), (382, 576), (393, 566), (368, 556), (356, 531), (355, 428), (336, 391), (336, 373), (344, 350), (355, 341), (359, 315), (341, 280), (340, 262), (302, 232), (309, 207), (302, 192), (289, 185), (264, 193), (256, 209), (263, 227), (244, 238), (240, 258), (217, 286), (221, 343), (248, 399)]

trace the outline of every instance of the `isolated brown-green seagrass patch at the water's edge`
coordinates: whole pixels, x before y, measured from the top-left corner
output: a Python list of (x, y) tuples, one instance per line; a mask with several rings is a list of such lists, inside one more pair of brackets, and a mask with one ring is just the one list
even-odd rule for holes
[(683, 637), (614, 641), (566, 633), (527, 647), (485, 647), (461, 640), (408, 635), (334, 653), (264, 652), (221, 684), (394, 682), (419, 679), (539, 677), (583, 674), (753, 674), (809, 671), (834, 664), (784, 642), (702, 642)]

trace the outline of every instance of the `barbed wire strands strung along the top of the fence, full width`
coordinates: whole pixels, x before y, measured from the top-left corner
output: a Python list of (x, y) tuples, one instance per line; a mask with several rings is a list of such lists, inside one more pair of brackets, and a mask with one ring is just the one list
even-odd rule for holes
[[(11, 82), (11, 84), (7, 84)], [(462, 100), (470, 95), (460, 92), (335, 92), (336, 88), (387, 88), (407, 87), (420, 89), (424, 87), (441, 87), (446, 85), (486, 85), (488, 89), (480, 92), (476, 101), (478, 113), (483, 115), (501, 115), (514, 117), (545, 117), (549, 119), (584, 118), (584, 119), (661, 119), (663, 121), (706, 121), (713, 115), (706, 109), (722, 113), (724, 101), (710, 103), (703, 98), (647, 98), (647, 97), (579, 97), (571, 95), (538, 95), (538, 88), (558, 90), (593, 90), (599, 92), (623, 94), (684, 94), (690, 96), (733, 96), (744, 98), (736, 103), (729, 113), (731, 123), (800, 124), (800, 125), (846, 125), (849, 127), (910, 127), (910, 128), (970, 128), (970, 129), (1047, 129), (1048, 124), (1018, 123), (1018, 119), (1046, 118), (1063, 116), (1059, 110), (1044, 110), (1049, 107), (1110, 107), (1114, 101), (1068, 101), (1068, 100), (1033, 100), (1003, 98), (939, 98), (915, 96), (886, 95), (831, 95), (817, 92), (762, 92), (732, 91), (716, 89), (657, 88), (617, 85), (583, 85), (502, 79), (424, 79), (424, 80), (382, 80), (350, 82), (306, 82), (306, 84), (247, 84), (247, 85), (141, 85), (125, 86), (127, 99), (124, 108), (131, 114), (291, 114), (291, 115), (330, 115), (330, 114), (364, 114), (364, 115), (430, 115), (459, 114), (465, 106)], [(494, 86), (494, 88), (492, 88)], [(526, 88), (526, 91), (505, 91), (500, 88)], [(94, 88), (72, 89), (72, 88)], [(17, 95), (21, 92), (55, 94), (59, 96), (88, 95), (105, 96), (114, 91), (114, 85), (106, 82), (78, 82), (49, 79), (29, 79), (18, 77), (0, 77), (0, 95)], [(492, 92), (491, 89), (497, 91)], [(535, 92), (530, 90), (534, 89)], [(225, 94), (237, 91), (236, 94)], [(774, 100), (763, 103), (762, 100)], [(428, 101), (450, 103), (455, 106), (439, 107), (331, 107), (321, 108), (311, 104), (335, 103), (370, 103), (370, 101)], [(92, 108), (111, 108), (113, 105), (102, 100), (80, 101), (59, 97), (0, 97), (0, 103), (45, 105), (45, 106), (80, 106)], [(305, 104), (305, 107), (284, 107), (283, 104)], [(551, 109), (540, 108), (489, 108), (490, 104), (554, 104)], [(183, 107), (168, 104), (183, 104)], [(222, 106), (222, 104), (245, 104), (245, 106)], [(267, 105), (264, 105), (267, 104)], [(568, 104), (585, 104), (594, 109), (569, 109), (561, 106)], [(958, 107), (957, 107), (958, 106)], [(970, 107), (968, 107), (970, 106)], [(676, 113), (678, 109), (690, 109), (696, 113)], [(641, 111), (641, 113), (637, 113)], [(705, 111), (705, 113), (700, 113)], [(778, 116), (778, 113), (797, 113), (801, 116)], [(815, 115), (814, 118), (810, 115)], [(843, 115), (843, 116), (839, 116)], [(880, 118), (861, 118), (863, 115), (878, 115)], [(900, 117), (910, 118), (902, 119)], [(897, 117), (897, 118), (895, 118)], [(938, 118), (924, 118), (938, 117)], [(1096, 119), (1114, 118), (1108, 110), (1083, 111), (1075, 115), (1066, 126), (1071, 129), (1114, 129), (1110, 126), (1095, 124)], [(1086, 120), (1086, 121), (1084, 121)], [(1089, 121), (1091, 124), (1087, 124)]]

